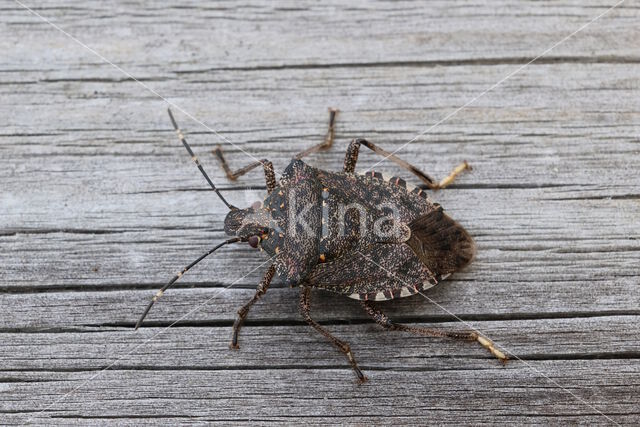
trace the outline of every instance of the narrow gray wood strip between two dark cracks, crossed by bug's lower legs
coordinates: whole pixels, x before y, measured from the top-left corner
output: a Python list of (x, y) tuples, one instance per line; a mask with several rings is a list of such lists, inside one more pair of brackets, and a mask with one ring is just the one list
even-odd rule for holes
[[(535, 319), (638, 315), (640, 300), (632, 279), (617, 284), (596, 282), (588, 289), (580, 282), (539, 284), (496, 284), (450, 281), (419, 295), (379, 303), (397, 319), (421, 318), (430, 321), (451, 319)], [(252, 289), (176, 289), (167, 292), (149, 313), (150, 325), (168, 324), (190, 313), (188, 322), (232, 322), (238, 308), (253, 296)], [(130, 325), (155, 294), (155, 290), (44, 292), (0, 294), (0, 330), (65, 329), (87, 325)], [(273, 288), (256, 304), (249, 321), (300, 321), (299, 291)], [(322, 321), (345, 322), (367, 316), (357, 301), (314, 292), (312, 308)], [(446, 311), (445, 311), (446, 310)]]

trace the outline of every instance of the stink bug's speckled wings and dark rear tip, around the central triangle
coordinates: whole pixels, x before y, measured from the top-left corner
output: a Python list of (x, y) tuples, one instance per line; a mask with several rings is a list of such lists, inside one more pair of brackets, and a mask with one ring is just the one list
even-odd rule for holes
[[(312, 286), (354, 299), (388, 300), (435, 286), (473, 258), (474, 243), (464, 228), (422, 189), (402, 178), (386, 178), (376, 172), (316, 173), (332, 198), (362, 203), (372, 210), (393, 203), (400, 221), (411, 229), (411, 238), (404, 243), (346, 242), (339, 257), (313, 267), (305, 279)], [(320, 247), (322, 252), (322, 244)]]

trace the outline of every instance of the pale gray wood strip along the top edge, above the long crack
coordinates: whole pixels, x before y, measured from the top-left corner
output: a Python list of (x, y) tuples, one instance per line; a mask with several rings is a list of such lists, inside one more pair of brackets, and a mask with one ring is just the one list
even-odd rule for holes
[[(535, 56), (611, 4), (553, 1), (491, 5), (446, 1), (361, 2), (163, 2), (82, 6), (71, 1), (33, 5), (111, 60), (137, 71), (168, 64), (179, 70), (279, 67), (292, 64), (371, 64), (397, 61), (510, 60)], [(61, 49), (68, 39), (9, 4), (3, 10), (7, 65), (91, 65), (81, 50)], [(622, 5), (552, 55), (578, 60), (629, 60), (637, 56), (633, 5)], [(20, 37), (28, 36), (28, 39)], [(34, 43), (38, 40), (40, 43)], [(3, 46), (3, 47), (4, 47)], [(20, 55), (27, 46), (30, 55)], [(171, 55), (173, 53), (173, 55)], [(47, 59), (47, 62), (38, 62)], [(44, 67), (43, 67), (44, 66)], [(57, 66), (57, 67), (56, 67)], [(104, 71), (101, 72), (104, 76)], [(120, 75), (113, 73), (121, 78)], [(226, 77), (227, 79), (231, 77)]]

